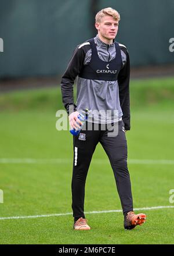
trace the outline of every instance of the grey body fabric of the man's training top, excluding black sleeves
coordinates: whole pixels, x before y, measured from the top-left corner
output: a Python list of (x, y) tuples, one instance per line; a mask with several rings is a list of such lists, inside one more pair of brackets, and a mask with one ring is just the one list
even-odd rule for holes
[[(111, 61), (116, 58), (115, 44), (105, 44), (98, 35), (95, 43), (99, 58), (102, 61)], [(88, 42), (86, 42), (88, 44)], [(84, 44), (79, 45), (81, 48)], [(84, 65), (90, 62), (92, 50), (86, 52)], [(121, 51), (123, 65), (126, 63), (126, 55)], [(122, 109), (119, 102), (118, 81), (89, 80), (78, 77), (77, 79), (77, 110), (89, 108), (88, 122), (111, 123), (121, 120)], [(115, 110), (115, 111), (114, 111)], [(111, 113), (111, 111), (113, 111)], [(100, 115), (98, 115), (98, 112)]]

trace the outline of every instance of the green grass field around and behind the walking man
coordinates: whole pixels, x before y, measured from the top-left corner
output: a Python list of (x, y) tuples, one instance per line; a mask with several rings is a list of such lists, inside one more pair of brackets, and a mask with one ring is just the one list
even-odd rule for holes
[[(132, 81), (131, 106), (126, 137), (134, 207), (174, 207), (174, 78)], [(72, 212), (73, 137), (56, 130), (60, 87), (1, 94), (0, 109), (0, 244), (173, 244), (174, 208), (135, 211), (146, 213), (147, 222), (131, 231), (121, 212), (86, 214), (87, 231), (73, 230), (71, 214), (2, 219)], [(98, 145), (85, 212), (114, 209), (121, 204), (113, 170)]]

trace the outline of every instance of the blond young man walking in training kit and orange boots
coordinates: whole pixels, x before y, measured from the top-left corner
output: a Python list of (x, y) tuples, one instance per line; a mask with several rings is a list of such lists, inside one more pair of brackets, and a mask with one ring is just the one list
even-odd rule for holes
[[(119, 20), (119, 13), (112, 8), (102, 9), (97, 13), (97, 36), (77, 46), (61, 80), (63, 104), (69, 115), (70, 126), (79, 128), (79, 110), (85, 108), (89, 108), (86, 124), (92, 124), (92, 129), (82, 129), (78, 136), (73, 136), (74, 164), (71, 186), (75, 230), (90, 229), (84, 215), (85, 182), (93, 152), (99, 142), (113, 168), (125, 229), (142, 225), (146, 219), (145, 214), (133, 212), (125, 137), (126, 130), (130, 130), (129, 55), (124, 45), (114, 41)], [(73, 84), (77, 76), (77, 102), (74, 104)], [(70, 108), (73, 108), (72, 113)], [(97, 115), (96, 110), (111, 112), (109, 115)], [(115, 136), (108, 136), (110, 129), (102, 129), (102, 125), (108, 123), (117, 125)]]

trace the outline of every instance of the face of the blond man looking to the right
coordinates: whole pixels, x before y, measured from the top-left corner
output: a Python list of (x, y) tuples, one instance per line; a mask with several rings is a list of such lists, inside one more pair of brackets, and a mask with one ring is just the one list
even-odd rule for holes
[(118, 32), (118, 22), (110, 15), (102, 18), (100, 23), (95, 24), (98, 33), (107, 40), (114, 39)]

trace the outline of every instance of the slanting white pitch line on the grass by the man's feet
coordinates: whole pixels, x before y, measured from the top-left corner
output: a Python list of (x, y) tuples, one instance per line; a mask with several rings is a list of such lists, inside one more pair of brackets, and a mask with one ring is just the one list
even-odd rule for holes
[[(134, 211), (147, 211), (154, 209), (165, 209), (165, 208), (174, 208), (174, 206), (157, 206), (157, 207), (143, 207), (143, 208), (134, 208)], [(110, 212), (122, 212), (122, 210), (109, 210), (109, 211), (92, 211), (85, 212), (85, 214), (108, 214)], [(44, 215), (31, 215), (31, 216), (11, 216), (11, 217), (0, 217), (0, 220), (3, 219), (31, 219), (31, 218), (45, 218), (45, 217), (55, 217), (55, 216), (64, 216), (64, 215), (73, 215), (73, 212), (67, 212), (66, 214), (44, 214)]]

